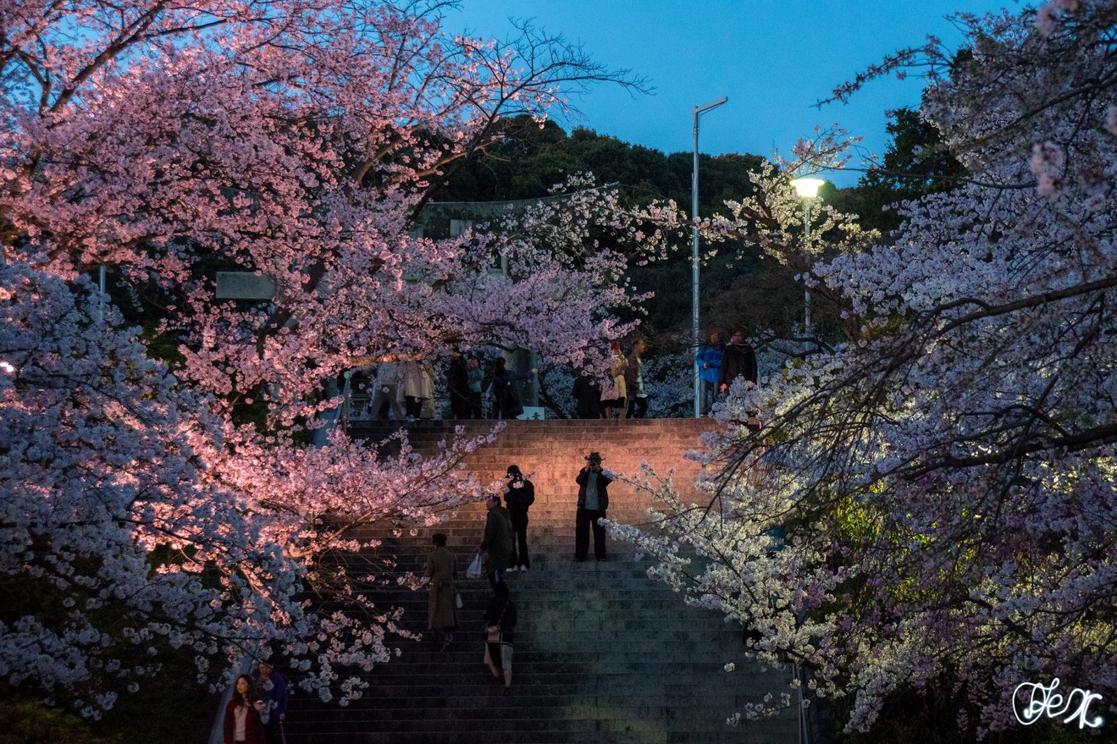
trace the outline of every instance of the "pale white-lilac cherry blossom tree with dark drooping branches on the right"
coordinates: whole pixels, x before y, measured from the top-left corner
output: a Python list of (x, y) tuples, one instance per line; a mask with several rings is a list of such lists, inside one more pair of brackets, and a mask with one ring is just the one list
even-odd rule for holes
[(849, 338), (734, 388), (708, 500), (646, 474), (661, 530), (614, 526), (851, 731), (928, 689), (978, 736), (1016, 725), (1021, 683), (1117, 699), (1117, 6), (956, 22), (962, 50), (933, 39), (836, 95), (918, 66), (971, 177), (903, 204), (894, 244), (813, 266)]

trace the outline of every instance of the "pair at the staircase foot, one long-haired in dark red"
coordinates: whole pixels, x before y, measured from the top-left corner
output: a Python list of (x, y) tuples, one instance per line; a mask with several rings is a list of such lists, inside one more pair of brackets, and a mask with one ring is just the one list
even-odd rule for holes
[(225, 707), (225, 744), (284, 744), (287, 683), (271, 661), (240, 675)]

